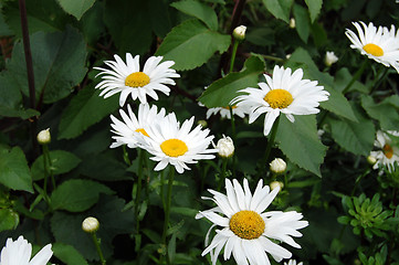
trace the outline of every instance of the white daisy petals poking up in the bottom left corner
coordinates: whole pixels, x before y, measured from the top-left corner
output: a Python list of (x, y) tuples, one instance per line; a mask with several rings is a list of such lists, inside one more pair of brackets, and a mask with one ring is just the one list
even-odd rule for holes
[(17, 241), (8, 239), (1, 250), (0, 265), (45, 265), (53, 255), (51, 244), (45, 245), (32, 259), (32, 245), (22, 235)]

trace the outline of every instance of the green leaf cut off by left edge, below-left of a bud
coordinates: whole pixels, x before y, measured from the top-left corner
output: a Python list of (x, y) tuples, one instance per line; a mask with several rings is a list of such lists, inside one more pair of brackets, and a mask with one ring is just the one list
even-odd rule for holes
[(12, 190), (33, 193), (31, 172), (21, 148), (8, 150), (0, 147), (0, 183)]

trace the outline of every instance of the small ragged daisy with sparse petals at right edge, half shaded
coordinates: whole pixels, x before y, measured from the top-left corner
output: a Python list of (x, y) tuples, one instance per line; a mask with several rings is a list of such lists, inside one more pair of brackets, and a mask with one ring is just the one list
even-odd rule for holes
[(392, 172), (395, 170), (395, 162), (399, 163), (399, 148), (392, 145), (392, 140), (389, 135), (399, 137), (399, 131), (377, 131), (377, 138), (374, 142), (374, 146), (378, 150), (371, 151), (370, 156), (377, 159), (376, 163), (372, 166), (374, 169), (386, 166), (388, 171)]

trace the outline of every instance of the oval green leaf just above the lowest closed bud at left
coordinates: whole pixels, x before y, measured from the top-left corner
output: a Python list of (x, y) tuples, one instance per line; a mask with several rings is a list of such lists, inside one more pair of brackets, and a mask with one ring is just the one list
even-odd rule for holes
[(92, 180), (67, 180), (51, 194), (51, 205), (53, 210), (83, 212), (98, 201), (99, 193), (113, 194), (114, 191)]

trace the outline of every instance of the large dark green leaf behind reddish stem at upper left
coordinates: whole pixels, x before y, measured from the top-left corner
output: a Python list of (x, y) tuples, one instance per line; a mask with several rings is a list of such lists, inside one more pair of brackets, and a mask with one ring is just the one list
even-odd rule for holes
[[(71, 26), (64, 32), (31, 35), (31, 50), (36, 100), (42, 97), (43, 103), (54, 103), (66, 97), (86, 74), (86, 45), (83, 36)], [(7, 66), (22, 93), (29, 96), (21, 42), (15, 44)]]

